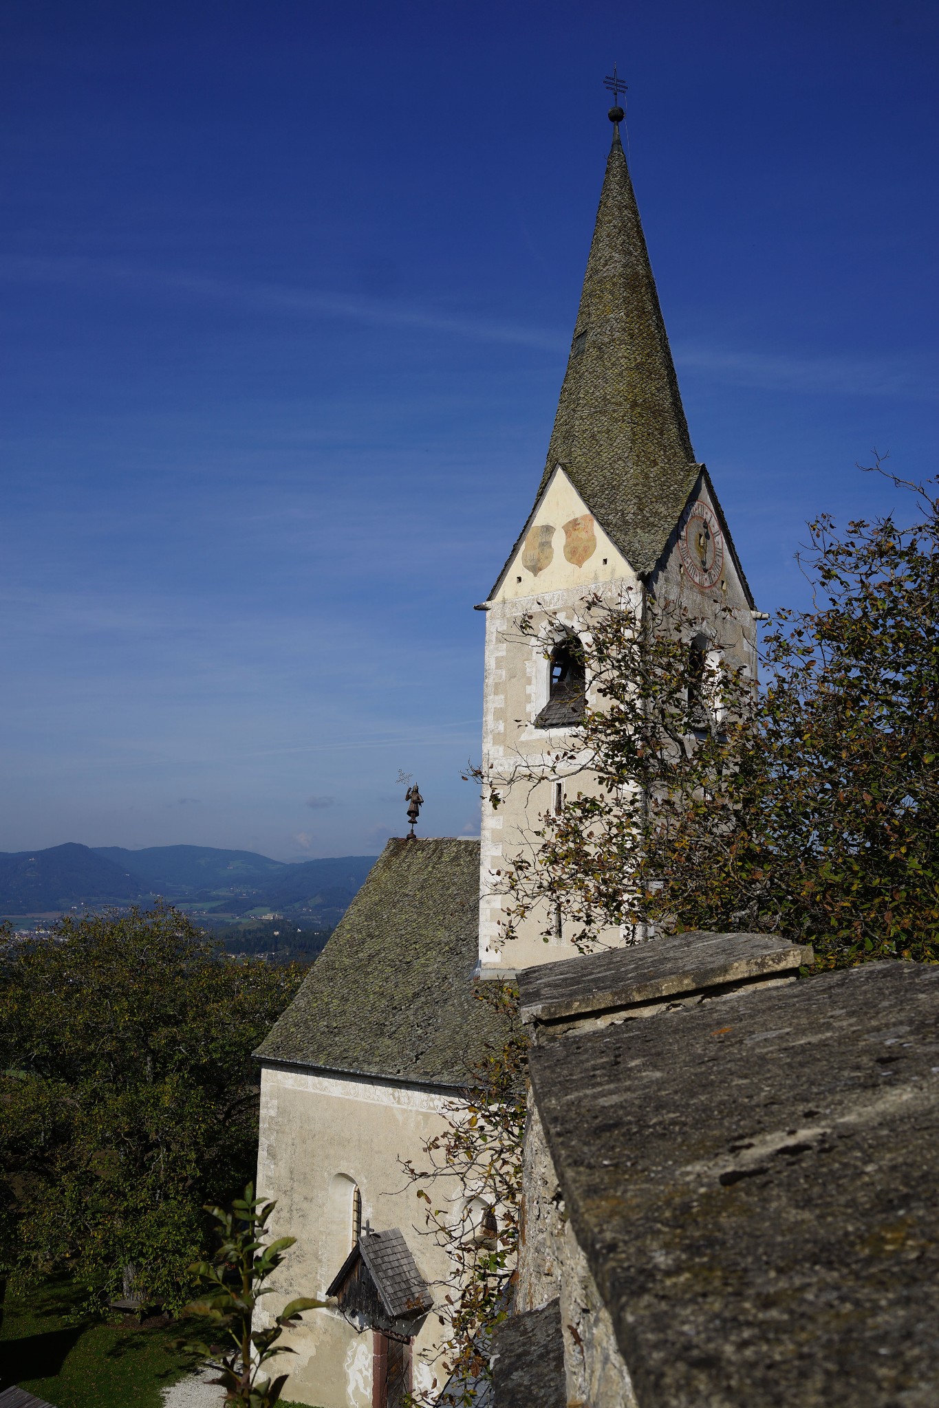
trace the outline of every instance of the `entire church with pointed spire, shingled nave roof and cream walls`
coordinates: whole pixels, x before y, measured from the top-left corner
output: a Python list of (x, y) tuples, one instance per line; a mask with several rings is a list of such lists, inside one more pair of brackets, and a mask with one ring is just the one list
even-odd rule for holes
[[(663, 587), (700, 622), (705, 648), (719, 618), (721, 648), (755, 669), (753, 601), (710, 474), (694, 459), (614, 125), (548, 459), (480, 607), (483, 763), (493, 776), (518, 756), (541, 759), (576, 727), (563, 707), (565, 650), (586, 596), (641, 604)], [(519, 636), (521, 614), (542, 636)], [(545, 635), (556, 620), (565, 639)], [(431, 1387), (448, 1264), (422, 1235), (401, 1162), (424, 1162), (473, 1062), (500, 1041), (477, 983), (576, 952), (563, 925), (542, 941), (543, 915), (500, 943), (496, 872), (563, 787), (555, 777), (510, 788), (498, 810), (484, 803), (479, 842), (390, 841), (258, 1052), (258, 1187), (277, 1200), (276, 1235), (297, 1238), (279, 1293), (336, 1298), (291, 1333), (291, 1398), (396, 1408), (411, 1384)], [(453, 1200), (459, 1222), (456, 1190)]]

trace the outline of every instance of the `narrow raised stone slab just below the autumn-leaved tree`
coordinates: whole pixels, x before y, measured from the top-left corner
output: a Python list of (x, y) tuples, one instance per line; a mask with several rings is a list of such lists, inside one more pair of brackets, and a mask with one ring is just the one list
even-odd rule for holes
[(769, 934), (674, 934), (525, 969), (518, 976), (524, 1022), (557, 1022), (659, 1005), (669, 998), (795, 974), (811, 948)]

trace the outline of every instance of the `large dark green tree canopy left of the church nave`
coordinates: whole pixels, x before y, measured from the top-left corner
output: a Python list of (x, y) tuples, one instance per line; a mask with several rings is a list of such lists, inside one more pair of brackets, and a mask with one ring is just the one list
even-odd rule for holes
[(256, 1153), (253, 1048), (298, 970), (234, 962), (168, 905), (65, 918), (3, 967), (7, 1266), (177, 1305), (203, 1205)]

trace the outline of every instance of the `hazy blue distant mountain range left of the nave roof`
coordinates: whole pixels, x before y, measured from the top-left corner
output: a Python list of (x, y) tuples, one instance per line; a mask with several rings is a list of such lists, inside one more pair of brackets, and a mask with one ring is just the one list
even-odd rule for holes
[(283, 914), (331, 926), (374, 865), (374, 856), (294, 863), (215, 846), (80, 846), (0, 852), (0, 915), (53, 914), (163, 895), (193, 917)]

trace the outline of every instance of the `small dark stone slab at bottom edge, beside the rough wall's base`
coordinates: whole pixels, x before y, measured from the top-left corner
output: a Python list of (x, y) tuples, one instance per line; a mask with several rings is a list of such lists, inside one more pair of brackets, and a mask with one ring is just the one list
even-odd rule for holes
[(494, 1408), (565, 1408), (560, 1302), (504, 1321), (493, 1336)]

